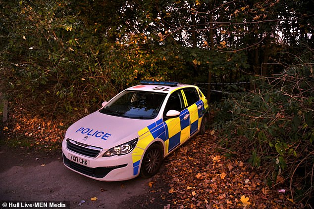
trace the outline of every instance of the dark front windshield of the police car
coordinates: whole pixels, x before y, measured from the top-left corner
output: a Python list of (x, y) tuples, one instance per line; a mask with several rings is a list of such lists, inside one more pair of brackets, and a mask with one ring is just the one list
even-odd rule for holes
[(166, 93), (126, 90), (110, 101), (101, 113), (124, 118), (154, 119)]

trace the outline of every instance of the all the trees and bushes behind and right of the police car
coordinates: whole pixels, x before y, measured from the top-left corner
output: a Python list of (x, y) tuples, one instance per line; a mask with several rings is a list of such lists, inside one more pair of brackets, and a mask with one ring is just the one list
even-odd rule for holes
[[(313, 6), (313, 0), (0, 0), (4, 96), (32, 114), (73, 121), (141, 80), (198, 84), (228, 154), (263, 165), (269, 185), (278, 176), (292, 179), (292, 198), (310, 200)], [(297, 175), (301, 186), (293, 183)]]

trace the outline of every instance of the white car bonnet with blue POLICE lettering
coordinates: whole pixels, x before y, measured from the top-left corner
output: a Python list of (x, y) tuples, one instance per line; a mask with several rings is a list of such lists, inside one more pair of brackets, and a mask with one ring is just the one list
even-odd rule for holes
[(71, 125), (65, 138), (106, 150), (137, 138), (139, 130), (155, 121), (110, 116), (96, 111)]

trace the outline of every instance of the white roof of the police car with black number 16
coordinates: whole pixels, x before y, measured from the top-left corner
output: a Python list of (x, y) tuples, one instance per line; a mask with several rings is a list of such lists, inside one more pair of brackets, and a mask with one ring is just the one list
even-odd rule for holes
[(152, 92), (160, 92), (160, 93), (171, 93), (176, 89), (180, 89), (183, 87), (196, 87), (195, 85), (190, 84), (179, 84), (175, 83), (175, 86), (172, 84), (140, 84), (127, 88), (126, 90), (139, 90), (139, 91), (152, 91)]

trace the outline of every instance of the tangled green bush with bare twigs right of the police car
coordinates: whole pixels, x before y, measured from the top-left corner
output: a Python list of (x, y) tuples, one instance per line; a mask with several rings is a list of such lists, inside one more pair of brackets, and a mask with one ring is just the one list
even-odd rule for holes
[[(233, 152), (250, 152), (249, 162), (267, 167), (266, 177), (272, 182), (279, 175), (295, 177), (297, 168), (313, 167), (314, 74), (310, 71), (311, 66), (303, 64), (276, 77), (257, 78), (254, 91), (230, 94), (215, 105), (213, 126), (223, 130), (220, 144)], [(310, 191), (309, 184), (303, 186)]]

